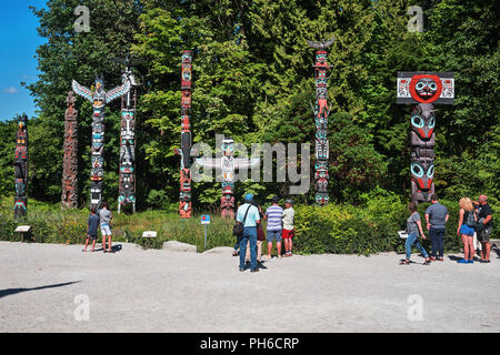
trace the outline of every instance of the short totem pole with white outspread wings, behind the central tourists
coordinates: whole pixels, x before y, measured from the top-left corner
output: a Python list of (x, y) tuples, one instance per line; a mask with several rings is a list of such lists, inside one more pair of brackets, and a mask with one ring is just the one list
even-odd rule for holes
[(246, 159), (234, 158), (234, 141), (224, 139), (222, 141), (222, 158), (199, 158), (196, 163), (203, 169), (216, 169), (222, 173), (222, 199), (220, 202), (221, 215), (234, 219), (234, 170), (254, 168), (260, 158)]

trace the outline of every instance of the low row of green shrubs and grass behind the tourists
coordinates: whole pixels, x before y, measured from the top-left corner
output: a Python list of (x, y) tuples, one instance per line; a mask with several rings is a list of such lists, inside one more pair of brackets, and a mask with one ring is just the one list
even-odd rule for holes
[[(449, 212), (444, 247), (447, 253), (456, 253), (461, 248), (457, 235), (459, 206), (453, 201), (442, 201)], [(429, 203), (419, 205), (419, 213), (426, 234), (424, 211)], [(360, 206), (330, 203), (326, 206), (296, 205), (296, 236), (293, 248), (300, 254), (362, 254), (404, 251), (404, 241), (397, 231), (406, 229), (409, 215), (408, 203), (401, 202), (397, 195), (369, 194)], [(11, 212), (0, 211), (0, 240), (19, 241), (13, 231), (18, 225), (32, 226), (32, 240), (39, 243), (81, 244), (86, 239), (88, 212), (61, 211), (56, 209), (37, 209), (30, 211), (27, 220), (14, 222)], [(493, 213), (493, 221), (500, 215)], [(207, 250), (216, 246), (233, 246), (233, 222), (220, 216), (212, 216), (208, 225)], [(264, 223), (266, 227), (266, 223)], [(143, 231), (157, 231), (157, 239), (143, 239)], [(198, 251), (204, 251), (204, 229), (199, 216), (180, 220), (176, 213), (148, 211), (134, 215), (114, 213), (114, 242), (131, 242), (143, 247), (161, 248), (163, 242), (177, 240), (193, 244)], [(498, 231), (493, 229), (493, 237)], [(263, 253), (267, 252), (267, 243)], [(430, 251), (430, 242), (423, 241)], [(274, 250), (276, 252), (276, 250)]]

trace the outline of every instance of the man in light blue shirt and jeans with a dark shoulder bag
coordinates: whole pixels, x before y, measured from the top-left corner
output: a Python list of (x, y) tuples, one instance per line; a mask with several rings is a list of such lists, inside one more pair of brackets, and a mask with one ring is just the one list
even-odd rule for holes
[(257, 266), (257, 225), (260, 223), (259, 210), (252, 204), (253, 195), (244, 195), (244, 204), (238, 207), (237, 222), (243, 227), (240, 241), (240, 271), (244, 271), (247, 243), (250, 243), (250, 272), (258, 272)]

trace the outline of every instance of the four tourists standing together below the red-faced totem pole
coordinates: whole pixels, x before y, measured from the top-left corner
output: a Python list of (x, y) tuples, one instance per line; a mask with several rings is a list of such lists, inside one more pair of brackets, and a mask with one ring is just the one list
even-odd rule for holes
[[(446, 223), (448, 222), (450, 215), (448, 213), (448, 209), (439, 203), (436, 194), (431, 196), (431, 202), (432, 204), (426, 210), (426, 223), (431, 241), (431, 253), (429, 255), (419, 241), (419, 236), (423, 240), (427, 240), (427, 236), (423, 233), (420, 214), (417, 212), (417, 204), (414, 202), (410, 202), (408, 205), (410, 216), (407, 220), (408, 236), (404, 245), (406, 258), (401, 261), (401, 265), (410, 264), (412, 246), (416, 246), (426, 258), (423, 262), (424, 265), (429, 265), (434, 261), (443, 261)], [(491, 206), (488, 204), (488, 197), (486, 195), (480, 195), (478, 201), (471, 201), (469, 197), (463, 197), (460, 200), (459, 204), (460, 212), (457, 235), (461, 237), (463, 243), (464, 256), (458, 262), (461, 264), (473, 264), (476, 254), (476, 234), (478, 241), (481, 243), (481, 258), (479, 262), (489, 263), (492, 224)]]

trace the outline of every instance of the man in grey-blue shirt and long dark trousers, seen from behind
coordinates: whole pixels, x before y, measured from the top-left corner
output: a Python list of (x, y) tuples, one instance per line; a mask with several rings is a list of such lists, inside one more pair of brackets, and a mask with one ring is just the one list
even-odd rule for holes
[(427, 230), (431, 240), (431, 261), (443, 261), (446, 223), (450, 215), (446, 206), (439, 203), (436, 194), (431, 196), (432, 204), (426, 210)]

